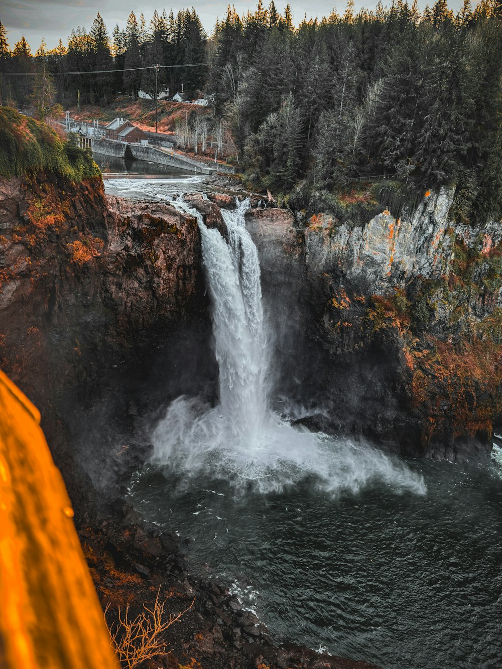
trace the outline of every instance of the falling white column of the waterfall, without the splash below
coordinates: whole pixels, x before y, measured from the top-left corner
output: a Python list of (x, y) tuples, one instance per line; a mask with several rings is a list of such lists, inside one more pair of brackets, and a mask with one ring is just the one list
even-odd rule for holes
[(266, 341), (258, 252), (244, 225), (249, 200), (222, 211), (228, 244), (198, 215), (202, 255), (212, 297), (216, 360), (220, 369), (220, 411), (232, 437), (254, 446), (266, 419)]

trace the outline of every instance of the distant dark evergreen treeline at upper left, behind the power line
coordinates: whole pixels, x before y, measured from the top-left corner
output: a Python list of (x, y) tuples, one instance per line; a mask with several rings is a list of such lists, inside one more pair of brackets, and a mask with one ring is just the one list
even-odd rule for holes
[[(180, 10), (176, 17), (172, 10), (169, 15), (155, 11), (149, 25), (143, 14), (137, 19), (131, 11), (125, 29), (116, 25), (111, 37), (98, 13), (89, 31), (79, 26), (66, 46), (60, 39), (51, 50), (42, 41), (34, 55), (24, 37), (11, 50), (0, 22), (0, 103), (41, 106), (39, 89), (45, 88), (44, 108), (48, 98), (64, 106), (108, 104), (117, 92), (135, 98), (144, 90), (153, 96), (156, 78), (157, 91), (168, 87), (173, 95), (183, 83), (193, 95), (205, 85), (206, 68), (198, 64), (205, 61), (206, 41), (193, 9)], [(157, 74), (153, 64), (161, 66)], [(179, 65), (187, 67), (172, 67)]]

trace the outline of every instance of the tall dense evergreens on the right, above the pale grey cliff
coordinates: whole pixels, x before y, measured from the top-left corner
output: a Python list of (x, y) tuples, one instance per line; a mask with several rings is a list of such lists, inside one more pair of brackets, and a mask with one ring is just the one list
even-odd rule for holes
[[(273, 1), (217, 25), (208, 89), (248, 179), (311, 211), (373, 175), (423, 193), (456, 184), (456, 214), (502, 213), (502, 1), (446, 0), (293, 27)], [(423, 190), (422, 190), (423, 189)]]

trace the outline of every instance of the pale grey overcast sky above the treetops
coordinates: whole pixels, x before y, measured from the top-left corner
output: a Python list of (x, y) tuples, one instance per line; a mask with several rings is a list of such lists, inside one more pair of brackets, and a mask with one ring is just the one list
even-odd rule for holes
[[(278, 11), (282, 11), (283, 7), (280, 0), (274, 0)], [(391, 0), (389, 0), (391, 1)], [(412, 0), (409, 0), (410, 4)], [(378, 0), (370, 0), (362, 2), (355, 0), (356, 10), (360, 7), (367, 7), (373, 9)], [(427, 0), (419, 0), (421, 8), (425, 7)], [(263, 1), (264, 5), (268, 5), (268, 0)], [(430, 5), (434, 0), (429, 0)], [(457, 11), (461, 0), (450, 0), (449, 6)], [(232, 3), (231, 3), (232, 4)], [(246, 1), (238, 0), (234, 3), (236, 10), (240, 15), (246, 13), (248, 9), (253, 10), (256, 7), (255, 3), (248, 3)], [(284, 6), (287, 4), (287, 0)], [(338, 13), (343, 13), (345, 9), (346, 0), (320, 0), (317, 3), (309, 3), (305, 0), (292, 0), (290, 7), (293, 13), (293, 21), (298, 24), (307, 13), (307, 17), (321, 17), (327, 16), (331, 13), (333, 7)], [(386, 4), (384, 0), (384, 4)], [(228, 0), (201, 0), (197, 2), (194, 7), (199, 15), (203, 26), (207, 33), (211, 33), (217, 18), (222, 18), (226, 15), (226, 8)], [(475, 5), (475, 2), (473, 2)], [(153, 10), (157, 9), (159, 13), (163, 7), (167, 13), (171, 9), (171, 5), (163, 5), (162, 0), (156, 2), (155, 0), (144, 0), (143, 2), (127, 3), (127, 0), (50, 0), (42, 2), (40, 0), (2, 0), (0, 7), (0, 21), (4, 23), (7, 28), (7, 39), (11, 49), (14, 44), (24, 35), (31, 51), (34, 53), (37, 50), (42, 38), (47, 42), (48, 48), (54, 48), (58, 39), (61, 37), (64, 45), (68, 43), (68, 35), (72, 28), (78, 25), (90, 28), (92, 20), (96, 17), (98, 11), (102, 15), (110, 35), (114, 25), (118, 23), (120, 28), (124, 28), (127, 22), (127, 17), (131, 9), (139, 18), (141, 12), (145, 15), (147, 23), (149, 23)], [(191, 5), (172, 5), (175, 15), (179, 9)]]

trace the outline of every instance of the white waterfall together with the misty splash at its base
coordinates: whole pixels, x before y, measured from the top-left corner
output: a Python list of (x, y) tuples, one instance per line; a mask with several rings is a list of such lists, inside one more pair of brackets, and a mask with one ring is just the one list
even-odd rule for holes
[[(175, 206), (197, 217), (212, 298), (220, 401), (179, 397), (153, 432), (153, 462), (189, 480), (205, 476), (279, 492), (312, 478), (324, 492), (358, 492), (378, 482), (393, 492), (426, 491), (422, 476), (369, 444), (333, 438), (293, 426), (268, 406), (268, 345), (256, 246), (244, 225), (248, 201), (224, 211), (228, 243), (207, 229), (185, 203)], [(251, 482), (251, 483), (250, 483)]]

